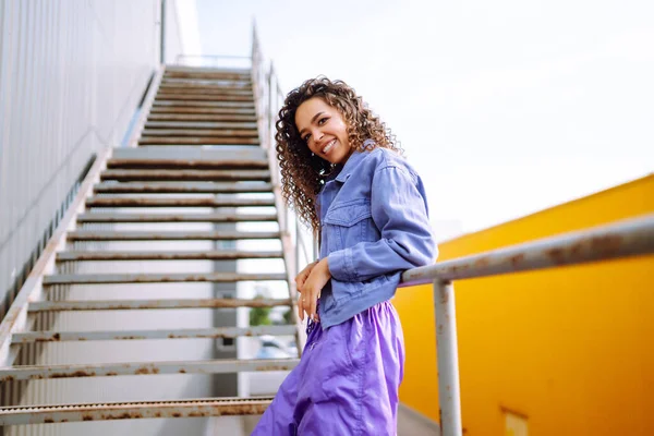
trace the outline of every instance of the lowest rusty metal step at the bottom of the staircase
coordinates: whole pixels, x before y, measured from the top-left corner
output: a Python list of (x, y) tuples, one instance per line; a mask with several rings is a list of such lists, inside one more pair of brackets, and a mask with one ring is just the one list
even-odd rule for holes
[(143, 417), (258, 415), (271, 398), (215, 398), (179, 401), (53, 404), (0, 409), (0, 425), (49, 424)]

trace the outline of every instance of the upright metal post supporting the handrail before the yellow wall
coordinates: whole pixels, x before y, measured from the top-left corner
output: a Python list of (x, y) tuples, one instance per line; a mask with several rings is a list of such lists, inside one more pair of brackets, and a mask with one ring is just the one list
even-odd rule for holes
[(461, 436), (461, 395), (459, 389), (459, 352), (455, 287), (451, 281), (434, 281), (436, 312), (436, 353), (440, 436)]

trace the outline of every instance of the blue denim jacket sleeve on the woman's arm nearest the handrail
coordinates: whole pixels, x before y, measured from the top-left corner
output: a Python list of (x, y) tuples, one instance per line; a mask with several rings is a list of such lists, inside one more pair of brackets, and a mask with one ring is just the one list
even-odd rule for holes
[(377, 169), (373, 175), (371, 215), (380, 239), (331, 252), (328, 264), (335, 279), (364, 281), (436, 259), (438, 251), (417, 175), (397, 166)]

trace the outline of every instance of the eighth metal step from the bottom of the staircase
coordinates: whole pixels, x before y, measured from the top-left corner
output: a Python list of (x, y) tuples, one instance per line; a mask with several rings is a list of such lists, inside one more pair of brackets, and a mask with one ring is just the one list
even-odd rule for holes
[(253, 222), (277, 221), (276, 214), (80, 214), (77, 222)]

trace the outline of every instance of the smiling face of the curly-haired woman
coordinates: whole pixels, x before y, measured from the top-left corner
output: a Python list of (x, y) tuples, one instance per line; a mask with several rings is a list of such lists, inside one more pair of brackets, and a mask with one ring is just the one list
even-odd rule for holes
[(344, 164), (353, 152), (343, 117), (320, 97), (298, 107), (295, 126), (308, 149), (331, 164)]

